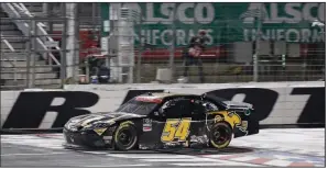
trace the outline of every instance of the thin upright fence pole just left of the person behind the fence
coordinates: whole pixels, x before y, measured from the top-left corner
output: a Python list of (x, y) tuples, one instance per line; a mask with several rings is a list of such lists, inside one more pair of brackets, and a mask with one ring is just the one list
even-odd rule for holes
[(176, 5), (173, 8), (172, 12), (173, 12), (173, 21), (172, 21), (172, 45), (171, 45), (171, 52), (170, 52), (170, 66), (168, 66), (171, 68), (171, 82), (173, 82), (173, 78), (174, 78)]

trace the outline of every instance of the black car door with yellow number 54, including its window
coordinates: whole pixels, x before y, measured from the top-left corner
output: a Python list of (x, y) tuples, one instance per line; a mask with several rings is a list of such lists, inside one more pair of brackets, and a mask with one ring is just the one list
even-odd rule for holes
[(144, 120), (143, 125), (151, 124), (152, 129), (143, 129), (142, 143), (165, 144), (187, 140), (192, 125), (190, 105), (188, 98), (171, 99), (164, 102), (157, 111)]

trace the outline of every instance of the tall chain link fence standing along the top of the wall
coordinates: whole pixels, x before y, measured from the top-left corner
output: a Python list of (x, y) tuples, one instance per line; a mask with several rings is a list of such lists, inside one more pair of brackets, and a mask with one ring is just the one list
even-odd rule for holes
[[(162, 69), (172, 70), (170, 82), (182, 82), (188, 44), (199, 30), (205, 30), (209, 38), (200, 55), (204, 82), (325, 79), (325, 32), (313, 26), (310, 21), (297, 23), (291, 20), (288, 22), (295, 24), (285, 26), (278, 25), (281, 21), (270, 19), (275, 23), (271, 24), (267, 15), (263, 19), (256, 15), (259, 13), (248, 15), (250, 5), (247, 4), (243, 5), (249, 13), (237, 11), (237, 15), (229, 18), (225, 14), (229, 13), (227, 9), (218, 12), (217, 3), (188, 4), (192, 9), (188, 11), (185, 9), (187, 4), (178, 3), (176, 9), (167, 8), (164, 13), (158, 9), (174, 3), (152, 3), (153, 8), (124, 3), (120, 9), (133, 11), (129, 20), (133, 22), (129, 24), (133, 25), (133, 33), (122, 35), (120, 31), (131, 27), (111, 22), (120, 13), (110, 13), (110, 8), (103, 8), (108, 3), (46, 4), (41, 5), (43, 14), (33, 18), (14, 18), (1, 9), (2, 89), (61, 88), (64, 83), (96, 82), (92, 78), (102, 70), (109, 79), (101, 83), (153, 82), (160, 80), (157, 72)], [(238, 3), (229, 5), (242, 7)], [(201, 8), (207, 12), (215, 10), (215, 15), (199, 13)], [(152, 16), (149, 15), (151, 12)], [(103, 19), (103, 13), (109, 19)], [(240, 19), (242, 14), (244, 18)], [(24, 32), (15, 23), (29, 26)], [(40, 33), (40, 26), (46, 34)], [(124, 54), (123, 47), (118, 50), (123, 36), (133, 41), (133, 46), (129, 44)], [(117, 64), (130, 56), (133, 57), (130, 58), (132, 65)], [(129, 71), (130, 67), (133, 67), (132, 71)], [(188, 82), (200, 82), (198, 65), (188, 66), (187, 72)], [(132, 74), (130, 80), (129, 74)], [(117, 79), (120, 76), (123, 78)]]

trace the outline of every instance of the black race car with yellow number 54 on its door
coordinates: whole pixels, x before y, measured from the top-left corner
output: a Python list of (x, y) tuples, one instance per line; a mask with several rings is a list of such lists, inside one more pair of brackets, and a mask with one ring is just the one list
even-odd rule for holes
[(259, 133), (252, 104), (211, 94), (144, 93), (113, 112), (70, 119), (66, 148), (116, 150), (171, 147), (225, 148), (232, 138)]

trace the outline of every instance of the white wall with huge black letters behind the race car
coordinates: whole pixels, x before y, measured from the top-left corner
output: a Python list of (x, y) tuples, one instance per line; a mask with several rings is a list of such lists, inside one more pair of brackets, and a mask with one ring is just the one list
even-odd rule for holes
[(261, 125), (325, 124), (325, 81), (205, 84), (68, 84), (64, 90), (1, 91), (2, 128), (58, 128), (73, 116), (113, 111), (154, 91), (214, 93), (254, 105)]

